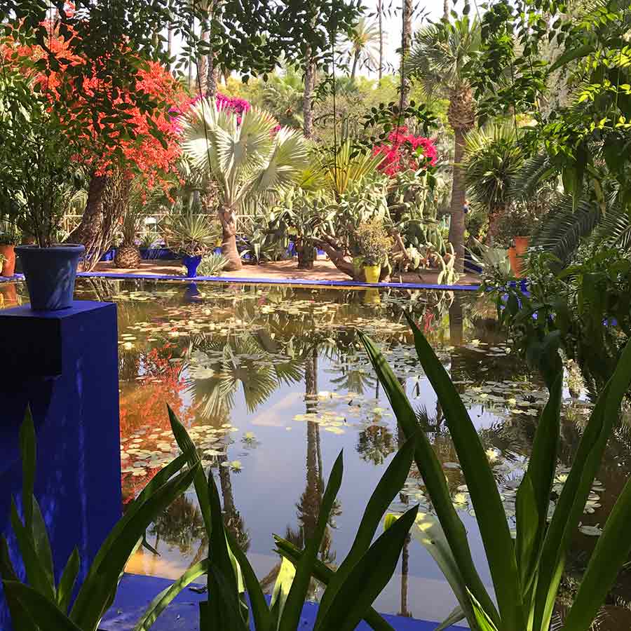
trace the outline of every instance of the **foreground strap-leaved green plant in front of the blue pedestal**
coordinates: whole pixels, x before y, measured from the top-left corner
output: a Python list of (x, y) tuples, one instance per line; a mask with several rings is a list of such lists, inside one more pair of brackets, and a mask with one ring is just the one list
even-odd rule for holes
[(183, 470), (186, 461), (193, 462), (190, 454), (184, 452), (144, 487), (97, 552), (73, 602), (81, 566), (79, 550), (74, 549), (57, 583), (46, 524), (33, 495), (36, 438), (28, 410), (20, 428), (20, 452), (23, 515), (20, 519), (15, 501), (12, 501), (11, 527), (18, 541), (28, 584), (18, 579), (6, 538), (0, 536), (0, 576), (13, 631), (97, 631), (101, 618), (114, 602), (125, 565), (141, 545), (144, 532), (175, 498), (189, 488), (197, 465), (191, 464)]

